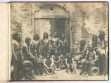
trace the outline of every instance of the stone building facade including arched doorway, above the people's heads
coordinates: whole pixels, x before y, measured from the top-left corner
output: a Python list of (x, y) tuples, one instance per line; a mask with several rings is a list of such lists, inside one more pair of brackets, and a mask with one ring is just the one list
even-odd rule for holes
[[(92, 35), (102, 30), (108, 39), (108, 3), (11, 3), (11, 31), (19, 31), (25, 37), (38, 33), (52, 35), (64, 33), (71, 50), (79, 41), (89, 44)], [(62, 27), (62, 28), (61, 28)]]

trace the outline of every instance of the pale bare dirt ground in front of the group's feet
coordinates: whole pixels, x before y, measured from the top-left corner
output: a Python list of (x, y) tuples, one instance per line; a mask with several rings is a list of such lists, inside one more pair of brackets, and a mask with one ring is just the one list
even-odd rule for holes
[(36, 80), (108, 80), (108, 76), (82, 76), (79, 75), (80, 71), (77, 70), (76, 74), (66, 73), (65, 70), (55, 71), (54, 75), (36, 76)]

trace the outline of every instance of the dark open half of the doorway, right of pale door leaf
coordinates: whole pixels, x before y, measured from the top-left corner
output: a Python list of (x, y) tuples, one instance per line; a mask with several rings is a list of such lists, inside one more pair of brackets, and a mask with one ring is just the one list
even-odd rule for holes
[(64, 34), (70, 46), (70, 19), (51, 18), (50, 25), (51, 25), (51, 34), (53, 35), (54, 32), (57, 32), (57, 35), (60, 39), (62, 37), (62, 34)]

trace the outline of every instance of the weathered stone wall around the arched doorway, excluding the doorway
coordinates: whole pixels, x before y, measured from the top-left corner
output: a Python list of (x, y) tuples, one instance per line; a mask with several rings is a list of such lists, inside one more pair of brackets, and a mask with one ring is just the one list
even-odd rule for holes
[[(19, 29), (23, 40), (34, 35), (34, 15), (46, 3), (12, 3), (11, 30)], [(77, 48), (79, 41), (90, 43), (93, 34), (108, 30), (108, 3), (50, 3), (63, 7), (70, 16), (71, 48)], [(58, 12), (58, 11), (56, 11)], [(45, 12), (44, 12), (45, 13)]]

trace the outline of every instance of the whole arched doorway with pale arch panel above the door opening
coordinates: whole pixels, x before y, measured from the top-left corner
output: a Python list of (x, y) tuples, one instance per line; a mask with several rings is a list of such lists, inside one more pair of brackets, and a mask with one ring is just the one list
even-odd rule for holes
[(70, 43), (70, 18), (68, 12), (59, 5), (45, 4), (34, 16), (34, 34), (38, 33), (43, 38), (43, 33), (53, 35), (57, 32), (61, 38), (65, 34)]

